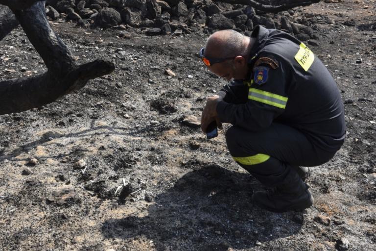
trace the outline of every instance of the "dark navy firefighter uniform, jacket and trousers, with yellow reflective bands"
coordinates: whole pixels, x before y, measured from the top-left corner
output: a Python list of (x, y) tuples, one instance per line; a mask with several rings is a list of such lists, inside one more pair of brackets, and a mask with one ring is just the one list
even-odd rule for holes
[(343, 102), (324, 64), (302, 42), (256, 26), (249, 77), (218, 95), (218, 117), (235, 161), (266, 185), (276, 186), (288, 166), (317, 166), (345, 138)]

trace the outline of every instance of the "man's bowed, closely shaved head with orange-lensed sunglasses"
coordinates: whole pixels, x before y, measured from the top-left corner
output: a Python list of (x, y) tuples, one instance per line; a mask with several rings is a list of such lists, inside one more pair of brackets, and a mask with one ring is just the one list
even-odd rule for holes
[(209, 37), (202, 51), (203, 61), (209, 71), (217, 76), (227, 80), (244, 79), (248, 73), (250, 48), (249, 37), (235, 30), (220, 30)]

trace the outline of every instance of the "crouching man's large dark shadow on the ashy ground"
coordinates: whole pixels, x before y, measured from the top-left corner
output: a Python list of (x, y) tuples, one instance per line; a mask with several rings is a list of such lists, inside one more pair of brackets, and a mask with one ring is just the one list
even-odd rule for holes
[(157, 250), (246, 249), (297, 233), (302, 213), (275, 214), (250, 202), (263, 189), (246, 173), (206, 165), (182, 178), (148, 207), (148, 216), (108, 219), (105, 238), (153, 241)]

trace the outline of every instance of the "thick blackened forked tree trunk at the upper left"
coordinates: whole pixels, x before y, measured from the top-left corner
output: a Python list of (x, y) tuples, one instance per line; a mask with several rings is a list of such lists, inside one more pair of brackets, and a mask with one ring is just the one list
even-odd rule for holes
[[(0, 0), (0, 2), (4, 1)], [(11, 27), (17, 26), (14, 22), (6, 24), (8, 21), (4, 22), (4, 19), (1, 19), (1, 17), (12, 16), (6, 9), (0, 11), (0, 28), (8, 28), (4, 31), (1, 29), (0, 38), (1, 35), (9, 33)], [(53, 102), (72, 91), (81, 89), (88, 80), (110, 74), (115, 70), (112, 62), (104, 60), (77, 65), (71, 51), (48, 24), (45, 1), (37, 1), (24, 10), (12, 9), (12, 11), (15, 14), (14, 20), (21, 24), (31, 44), (44, 60), (48, 71), (29, 78), (0, 81), (0, 115), (21, 112)], [(2, 24), (4, 26), (1, 26)]]

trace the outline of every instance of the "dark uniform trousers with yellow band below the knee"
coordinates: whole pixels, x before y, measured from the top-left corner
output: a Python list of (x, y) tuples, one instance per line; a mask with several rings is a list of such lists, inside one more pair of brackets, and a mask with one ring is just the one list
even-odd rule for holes
[(226, 143), (235, 161), (269, 187), (284, 184), (296, 167), (318, 166), (335, 154), (312, 144), (303, 132), (279, 123), (261, 132), (232, 126)]

